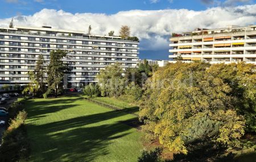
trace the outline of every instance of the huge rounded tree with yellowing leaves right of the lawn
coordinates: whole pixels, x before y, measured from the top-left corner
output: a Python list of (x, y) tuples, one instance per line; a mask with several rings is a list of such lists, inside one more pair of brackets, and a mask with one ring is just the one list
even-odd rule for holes
[(184, 154), (191, 146), (208, 142), (213, 147), (238, 147), (245, 119), (234, 109), (232, 88), (212, 76), (209, 67), (208, 63), (177, 62), (147, 80), (139, 112), (147, 139), (157, 138), (170, 151)]

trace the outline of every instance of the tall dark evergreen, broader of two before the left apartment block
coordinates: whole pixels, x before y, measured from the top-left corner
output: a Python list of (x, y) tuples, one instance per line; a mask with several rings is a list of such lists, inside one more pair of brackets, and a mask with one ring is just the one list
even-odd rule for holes
[(68, 64), (63, 63), (61, 59), (67, 56), (67, 51), (57, 49), (50, 52), (50, 61), (47, 67), (47, 84), (48, 89), (46, 94), (57, 95), (63, 90), (64, 74), (68, 72)]

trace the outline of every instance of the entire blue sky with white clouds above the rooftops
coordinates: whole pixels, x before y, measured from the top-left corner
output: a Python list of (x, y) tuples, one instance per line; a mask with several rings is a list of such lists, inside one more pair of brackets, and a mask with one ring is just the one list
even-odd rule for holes
[(82, 30), (91, 25), (93, 34), (118, 35), (122, 25), (138, 36), (141, 59), (168, 59), (168, 39), (172, 32), (229, 24), (256, 24), (255, 0), (0, 0), (0, 26)]

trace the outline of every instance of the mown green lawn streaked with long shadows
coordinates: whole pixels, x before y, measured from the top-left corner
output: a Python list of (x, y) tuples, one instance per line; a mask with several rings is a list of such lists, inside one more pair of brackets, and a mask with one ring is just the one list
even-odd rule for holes
[(80, 97), (26, 101), (30, 161), (137, 161), (141, 133), (134, 119)]

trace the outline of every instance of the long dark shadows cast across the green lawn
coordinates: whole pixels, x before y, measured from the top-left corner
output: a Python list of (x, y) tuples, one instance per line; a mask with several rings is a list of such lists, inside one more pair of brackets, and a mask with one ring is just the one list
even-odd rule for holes
[[(75, 100), (77, 99), (71, 99), (71, 101), (70, 99), (38, 101), (36, 102), (38, 106), (28, 111), (29, 118), (42, 118), (44, 114), (55, 113), (61, 109), (76, 106), (65, 105), (65, 103)], [(29, 104), (34, 104), (33, 102), (35, 101), (31, 101)], [(64, 106), (49, 106), (53, 104), (52, 102), (54, 104), (63, 103)], [(47, 107), (42, 107), (42, 105), (47, 105)], [(130, 134), (131, 127), (123, 123), (131, 119), (91, 127), (88, 125), (127, 115), (127, 111), (135, 112), (137, 107), (40, 125), (28, 124), (32, 149), (31, 159), (35, 161), (92, 161), (98, 156), (108, 155), (110, 153), (109, 144), (112, 144), (115, 139)], [(133, 120), (136, 119), (138, 118), (133, 118)]]

